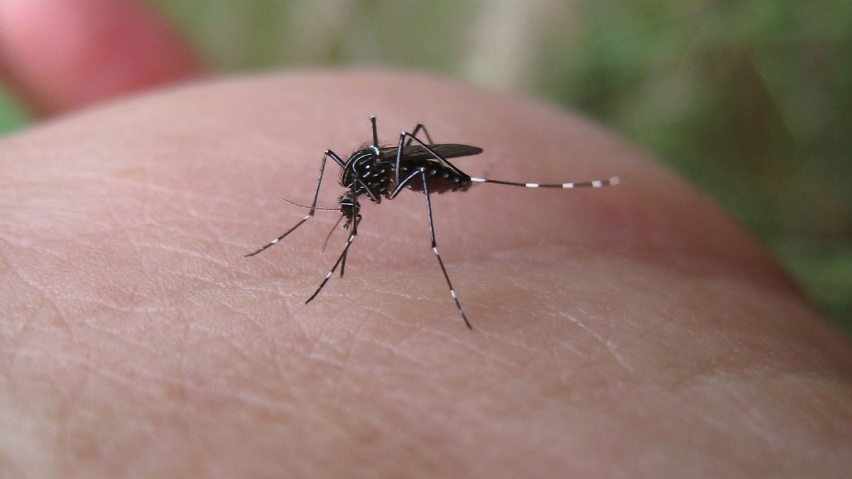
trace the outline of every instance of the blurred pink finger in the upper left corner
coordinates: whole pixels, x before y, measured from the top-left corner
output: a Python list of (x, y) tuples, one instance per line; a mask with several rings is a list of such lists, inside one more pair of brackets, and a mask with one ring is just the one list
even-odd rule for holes
[(199, 61), (131, 0), (3, 0), (0, 72), (39, 113), (192, 77)]

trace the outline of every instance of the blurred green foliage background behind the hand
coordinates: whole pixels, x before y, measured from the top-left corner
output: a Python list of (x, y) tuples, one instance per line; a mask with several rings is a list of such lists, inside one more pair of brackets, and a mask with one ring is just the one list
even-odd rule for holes
[[(212, 66), (415, 68), (579, 110), (704, 190), (852, 333), (852, 2), (147, 0)], [(0, 134), (26, 125), (0, 90)]]

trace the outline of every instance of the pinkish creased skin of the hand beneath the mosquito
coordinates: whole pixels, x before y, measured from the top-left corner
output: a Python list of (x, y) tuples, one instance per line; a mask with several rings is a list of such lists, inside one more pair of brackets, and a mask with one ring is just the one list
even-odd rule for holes
[[(530, 182), (304, 216), (325, 148)], [(342, 188), (326, 171), (323, 205)], [(840, 476), (849, 343), (671, 173), (566, 113), (389, 73), (191, 85), (0, 141), (0, 476)]]

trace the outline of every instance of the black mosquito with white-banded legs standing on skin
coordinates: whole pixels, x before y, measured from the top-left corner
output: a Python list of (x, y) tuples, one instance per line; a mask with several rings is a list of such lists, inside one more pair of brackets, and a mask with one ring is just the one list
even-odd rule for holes
[[(423, 124), (417, 124), (411, 133), (406, 131), (401, 132), (400, 139), (395, 147), (382, 147), (378, 143), (376, 117), (371, 117), (370, 121), (372, 124), (372, 142), (367, 143), (364, 147), (360, 147), (349, 155), (348, 159), (341, 158), (331, 150), (325, 150), (325, 154), (323, 154), (322, 161), (320, 162), (320, 179), (317, 180), (317, 186), (314, 189), (314, 201), (310, 206), (303, 206), (310, 210), (308, 211), (308, 215), (278, 238), (269, 241), (257, 251), (245, 255), (246, 257), (253, 257), (265, 251), (270, 246), (275, 245), (280, 240), (284, 240), (288, 234), (291, 234), (296, 228), (299, 228), (304, 222), (311, 219), (317, 210), (340, 211), (341, 216), (337, 220), (337, 224), (344, 218), (346, 219), (346, 222), (343, 223), (343, 228), (349, 231), (348, 240), (340, 256), (337, 257), (334, 266), (331, 267), (328, 274), (325, 274), (325, 279), (322, 280), (320, 286), (317, 287), (311, 297), (308, 297), (308, 301), (305, 303), (310, 303), (314, 297), (320, 294), (325, 283), (328, 282), (338, 266), (340, 267), (340, 275), (343, 277), (343, 271), (346, 268), (346, 255), (349, 251), (349, 246), (352, 245), (352, 242), (358, 235), (358, 225), (361, 222), (360, 204), (358, 202), (360, 197), (366, 195), (372, 202), (379, 204), (382, 203), (383, 198), (394, 199), (403, 189), (410, 188), (426, 195), (426, 213), (429, 218), (429, 238), (432, 240), (432, 251), (435, 252), (440, 271), (444, 274), (444, 280), (446, 280), (446, 286), (450, 288), (450, 296), (456, 303), (464, 324), (470, 329), (473, 329), (470, 326), (467, 315), (464, 314), (462, 303), (458, 301), (456, 290), (452, 287), (452, 281), (450, 281), (450, 275), (446, 273), (446, 267), (438, 253), (438, 243), (435, 241), (435, 226), (432, 222), (432, 202), (429, 199), (429, 195), (431, 193), (466, 191), (473, 183), (494, 183), (522, 188), (570, 189), (602, 188), (618, 184), (619, 182), (618, 176), (613, 176), (606, 180), (566, 183), (504, 182), (501, 180), (469, 176), (464, 171), (459, 170), (456, 165), (450, 163), (448, 159), (473, 156), (482, 153), (482, 148), (455, 143), (435, 143), (435, 141), (432, 141), (432, 137), (429, 136), (429, 130), (426, 130)], [(423, 131), (426, 141), (421, 140), (417, 136), (421, 131)], [(337, 210), (317, 206), (317, 198), (320, 196), (320, 184), (322, 183), (323, 173), (325, 173), (325, 161), (329, 158), (333, 159), (340, 166), (340, 184), (343, 188), (347, 188), (347, 191), (341, 194), (338, 199)], [(337, 227), (337, 224), (335, 227)]]

